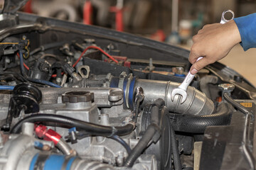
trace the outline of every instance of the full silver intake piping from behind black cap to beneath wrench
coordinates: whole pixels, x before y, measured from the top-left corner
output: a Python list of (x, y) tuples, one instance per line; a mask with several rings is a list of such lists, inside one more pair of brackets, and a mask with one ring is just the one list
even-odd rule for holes
[[(41, 88), (41, 91), (43, 103), (57, 103), (58, 96), (67, 91), (90, 91), (95, 95), (94, 101), (98, 107), (111, 107), (124, 103), (124, 107), (132, 109), (135, 96), (134, 91), (140, 86), (144, 91), (142, 106), (153, 102), (156, 98), (162, 98), (166, 103), (168, 111), (171, 113), (188, 115), (210, 115), (213, 113), (213, 101), (207, 98), (206, 94), (192, 86), (188, 86), (188, 96), (184, 103), (181, 104), (181, 97), (179, 95), (176, 95), (174, 101), (171, 101), (171, 91), (179, 85), (179, 83), (172, 81), (138, 79), (129, 74), (128, 77), (111, 77), (110, 81), (105, 83), (105, 88), (94, 86), (90, 88)], [(110, 86), (110, 88), (107, 86)]]

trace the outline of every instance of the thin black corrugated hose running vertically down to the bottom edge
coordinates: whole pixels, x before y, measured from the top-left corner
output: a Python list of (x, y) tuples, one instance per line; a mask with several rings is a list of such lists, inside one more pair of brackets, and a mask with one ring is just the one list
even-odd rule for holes
[(178, 151), (178, 141), (176, 138), (176, 134), (174, 132), (174, 128), (170, 124), (170, 133), (171, 133), (171, 151), (173, 154), (173, 159), (174, 159), (174, 169), (175, 170), (181, 170), (182, 169), (182, 164), (181, 164), (181, 157)]

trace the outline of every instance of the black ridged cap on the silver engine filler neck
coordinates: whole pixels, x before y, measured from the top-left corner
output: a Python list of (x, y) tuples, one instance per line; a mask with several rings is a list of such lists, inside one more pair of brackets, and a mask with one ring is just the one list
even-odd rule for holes
[(92, 101), (94, 94), (90, 91), (69, 91), (62, 95), (63, 103), (79, 103)]

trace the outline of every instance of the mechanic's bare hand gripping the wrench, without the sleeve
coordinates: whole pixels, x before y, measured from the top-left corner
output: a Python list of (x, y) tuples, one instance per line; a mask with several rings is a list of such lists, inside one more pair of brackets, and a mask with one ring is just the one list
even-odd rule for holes
[[(240, 41), (240, 33), (235, 21), (204, 26), (197, 35), (193, 36), (193, 45), (188, 59), (193, 64), (191, 74), (196, 74), (206, 65), (228, 55), (228, 52)], [(203, 59), (196, 62), (198, 57)]]

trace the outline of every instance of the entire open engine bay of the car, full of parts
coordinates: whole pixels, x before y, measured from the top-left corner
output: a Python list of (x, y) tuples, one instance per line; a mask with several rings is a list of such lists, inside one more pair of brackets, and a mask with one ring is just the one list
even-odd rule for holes
[(232, 69), (198, 72), (181, 103), (171, 91), (191, 66), (186, 50), (26, 13), (7, 18), (0, 169), (254, 169), (255, 87)]

